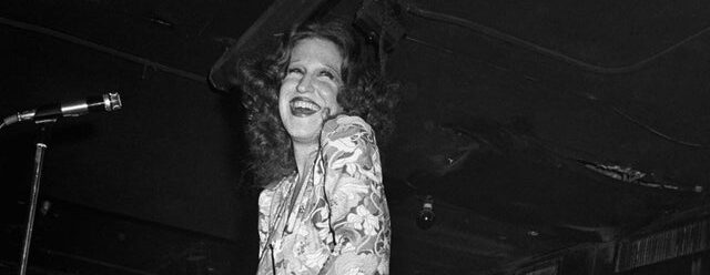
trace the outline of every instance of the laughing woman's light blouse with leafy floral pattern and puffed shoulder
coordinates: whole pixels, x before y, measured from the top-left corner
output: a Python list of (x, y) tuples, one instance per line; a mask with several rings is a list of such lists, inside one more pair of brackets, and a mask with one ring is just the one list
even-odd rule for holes
[(371, 126), (329, 120), (302, 184), (295, 174), (258, 197), (264, 274), (388, 274), (389, 211)]

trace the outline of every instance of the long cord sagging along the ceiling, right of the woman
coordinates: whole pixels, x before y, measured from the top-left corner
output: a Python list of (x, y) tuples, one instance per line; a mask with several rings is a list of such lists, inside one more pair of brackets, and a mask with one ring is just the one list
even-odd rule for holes
[(629, 72), (633, 72), (637, 71), (643, 67), (646, 67), (647, 64), (649, 64), (651, 61), (655, 61), (656, 59), (676, 50), (677, 48), (686, 44), (687, 42), (702, 35), (706, 34), (708, 31), (710, 31), (710, 27), (706, 27), (702, 30), (700, 30), (699, 32), (696, 32), (692, 35), (689, 35), (688, 38), (681, 40), (678, 43), (672, 44), (669, 48), (666, 48), (662, 51), (657, 52), (656, 54), (652, 54), (646, 59), (642, 59), (633, 64), (630, 65), (623, 65), (623, 67), (600, 67), (597, 64), (591, 64), (588, 62), (585, 62), (582, 60), (578, 60), (575, 58), (571, 58), (567, 54), (564, 54), (561, 52), (538, 45), (536, 43), (519, 39), (517, 37), (510, 35), (508, 33), (505, 32), (500, 32), (496, 29), (493, 29), (490, 27), (486, 27), (476, 22), (473, 22), (470, 20), (467, 19), (463, 19), (463, 18), (458, 18), (458, 17), (454, 17), (454, 16), (449, 16), (446, 13), (440, 13), (440, 12), (435, 12), (435, 11), (428, 11), (428, 10), (424, 10), (424, 9), (419, 9), (413, 4), (408, 4), (406, 7), (406, 11), (424, 18), (424, 19), (428, 19), (428, 20), (434, 20), (434, 21), (439, 21), (439, 22), (445, 22), (445, 23), (449, 23), (449, 24), (455, 24), (455, 26), (459, 26), (479, 33), (483, 33), (485, 35), (491, 37), (491, 38), (496, 38), (499, 40), (503, 40), (505, 42), (515, 44), (515, 45), (519, 45), (523, 47), (525, 49), (538, 52), (540, 54), (544, 55), (548, 55), (554, 59), (560, 60), (562, 62), (566, 63), (570, 63), (574, 65), (577, 65), (584, 70), (590, 71), (590, 72), (596, 72), (596, 73), (601, 73), (601, 74), (619, 74), (619, 73), (629, 73)]

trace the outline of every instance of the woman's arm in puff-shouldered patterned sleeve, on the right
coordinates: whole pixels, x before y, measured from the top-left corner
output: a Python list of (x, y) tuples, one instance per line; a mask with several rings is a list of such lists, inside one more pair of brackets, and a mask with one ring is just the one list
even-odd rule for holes
[(389, 211), (371, 126), (356, 116), (328, 121), (321, 138), (335, 248), (321, 274), (387, 274)]

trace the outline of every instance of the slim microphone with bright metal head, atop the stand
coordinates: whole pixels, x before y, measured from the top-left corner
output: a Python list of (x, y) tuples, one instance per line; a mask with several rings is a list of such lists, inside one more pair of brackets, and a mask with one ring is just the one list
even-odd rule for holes
[(64, 116), (79, 116), (91, 112), (111, 112), (121, 109), (121, 96), (119, 93), (108, 93), (102, 96), (90, 96), (83, 100), (48, 104), (38, 109), (19, 112), (4, 118), (2, 123), (10, 125), (20, 121), (42, 122)]

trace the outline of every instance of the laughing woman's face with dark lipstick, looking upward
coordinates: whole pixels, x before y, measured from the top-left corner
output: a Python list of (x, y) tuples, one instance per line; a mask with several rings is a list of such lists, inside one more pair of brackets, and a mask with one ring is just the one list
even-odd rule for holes
[(328, 40), (307, 38), (294, 45), (278, 92), (281, 121), (294, 142), (317, 142), (324, 119), (342, 111), (336, 100), (342, 65), (339, 49)]

